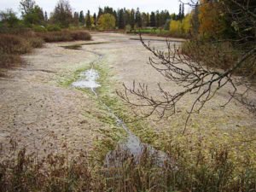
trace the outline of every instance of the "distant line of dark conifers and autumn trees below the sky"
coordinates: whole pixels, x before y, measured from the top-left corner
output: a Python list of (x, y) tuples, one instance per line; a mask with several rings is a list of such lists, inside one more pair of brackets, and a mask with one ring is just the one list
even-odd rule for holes
[[(108, 6), (99, 8), (97, 13), (90, 14), (90, 10), (87, 10), (86, 13), (83, 10), (73, 12), (68, 0), (59, 0), (53, 12), (48, 15), (34, 0), (21, 0), (20, 10), (22, 24), (29, 27), (55, 25), (60, 28), (70, 26), (93, 28), (101, 23), (99, 20), (102, 15), (108, 14), (108, 16), (114, 18), (114, 27), (118, 29), (125, 29), (127, 25), (130, 25), (131, 29), (140, 27), (158, 28), (164, 27), (166, 22), (170, 22), (170, 20), (183, 20), (184, 18), (184, 7), (182, 4), (180, 4), (178, 14), (170, 14), (168, 10), (145, 13), (141, 12), (139, 8), (115, 10)], [(17, 26), (17, 23), (20, 21), (12, 9), (1, 11), (0, 20), (2, 24), (9, 27)], [(169, 26), (166, 26), (166, 29), (169, 29)]]

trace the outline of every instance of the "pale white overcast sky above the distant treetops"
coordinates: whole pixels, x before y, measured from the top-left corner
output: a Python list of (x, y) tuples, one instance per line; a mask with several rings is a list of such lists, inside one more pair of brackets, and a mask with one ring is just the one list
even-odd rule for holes
[[(55, 5), (58, 0), (35, 0), (39, 7), (43, 8), (48, 13), (55, 9)], [(113, 9), (126, 8), (126, 9), (137, 9), (139, 8), (143, 12), (151, 12), (156, 10), (167, 9), (171, 14), (178, 13), (178, 0), (69, 0), (73, 11), (83, 10), (84, 13), (90, 9), (90, 12), (97, 13), (98, 8), (104, 8), (104, 6), (112, 7)], [(16, 13), (19, 14), (20, 0), (0, 0), (0, 10), (12, 8)], [(185, 7), (185, 13), (188, 12)], [(19, 14), (20, 15), (20, 14)]]

